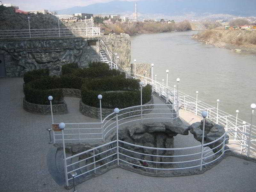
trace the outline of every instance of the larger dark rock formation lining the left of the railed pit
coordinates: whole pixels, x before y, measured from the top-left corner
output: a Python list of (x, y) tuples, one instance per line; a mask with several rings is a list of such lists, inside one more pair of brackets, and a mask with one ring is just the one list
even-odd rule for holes
[[(130, 126), (126, 126), (122, 129), (119, 129), (118, 139), (127, 143), (145, 146), (145, 147), (155, 147), (155, 148), (174, 148), (173, 136), (177, 134), (188, 135), (188, 126), (184, 125), (179, 118), (173, 119), (172, 123), (163, 122), (163, 123), (138, 123)], [(113, 136), (112, 140), (116, 140), (116, 135)], [(157, 161), (157, 162), (172, 162), (173, 157), (158, 157), (150, 155), (162, 155), (162, 156), (172, 156), (174, 150), (156, 150), (151, 148), (141, 148), (132, 146), (126, 143), (119, 142), (119, 146), (125, 149), (120, 149), (119, 152), (120, 158), (124, 161), (142, 165), (148, 164), (151, 167), (156, 166), (156, 163), (146, 162), (147, 161)], [(131, 152), (131, 151), (134, 152)], [(138, 154), (143, 153), (143, 154)], [(130, 157), (128, 157), (130, 156)], [(133, 159), (131, 157), (137, 158)], [(140, 159), (140, 160), (139, 160)], [(158, 163), (158, 168), (170, 168), (172, 164), (163, 164)], [(138, 168), (135, 166), (134, 168)], [(151, 172), (153, 170), (144, 169), (144, 171)]]

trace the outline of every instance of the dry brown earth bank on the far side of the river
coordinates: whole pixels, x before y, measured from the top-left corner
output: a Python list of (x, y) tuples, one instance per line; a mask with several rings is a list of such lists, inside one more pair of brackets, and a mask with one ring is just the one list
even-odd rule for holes
[(256, 31), (212, 29), (202, 31), (193, 38), (220, 48), (256, 53)]

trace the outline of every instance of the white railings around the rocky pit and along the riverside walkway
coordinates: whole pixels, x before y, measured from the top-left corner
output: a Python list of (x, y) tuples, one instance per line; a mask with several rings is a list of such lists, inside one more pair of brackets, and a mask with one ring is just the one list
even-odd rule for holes
[[(109, 53), (110, 55), (110, 53)], [(109, 56), (111, 58), (111, 55)], [(109, 59), (110, 60), (110, 59)], [(113, 61), (112, 61), (113, 62)], [(114, 62), (115, 63), (115, 62)], [(113, 68), (118, 69), (117, 65), (113, 65)], [(152, 69), (153, 71), (153, 69)], [(130, 108), (121, 109), (119, 114), (111, 113), (109, 114), (102, 122), (96, 123), (98, 127), (98, 132), (86, 132), (82, 133), (84, 135), (89, 135), (87, 133), (92, 133), (90, 139), (103, 139), (108, 137), (108, 134), (111, 132), (118, 132), (119, 126), (124, 126), (126, 124), (131, 125), (132, 123), (136, 122), (156, 122), (157, 120), (160, 122), (163, 121), (172, 121), (173, 119), (179, 117), (179, 108), (183, 108), (184, 110), (188, 110), (195, 115), (201, 115), (203, 111), (207, 111), (207, 117), (208, 119), (212, 120), (213, 122), (220, 124), (224, 126), (225, 133), (218, 139), (210, 142), (210, 143), (204, 143), (203, 144), (203, 150), (201, 151), (202, 145), (198, 146), (192, 146), (192, 147), (186, 147), (186, 148), (152, 148), (152, 147), (145, 147), (145, 146), (139, 146), (134, 145), (131, 143), (124, 142), (122, 140), (118, 140), (118, 137), (116, 140), (108, 142), (104, 145), (101, 145), (96, 148), (89, 149), (87, 151), (84, 151), (82, 153), (76, 154), (74, 156), (70, 156), (64, 159), (64, 162), (67, 164), (67, 167), (65, 167), (65, 178), (66, 178), (66, 185), (68, 186), (68, 181), (72, 178), (68, 175), (68, 173), (71, 173), (72, 171), (79, 172), (76, 177), (79, 176), (88, 176), (93, 171), (94, 173), (97, 172), (99, 168), (101, 168), (104, 165), (107, 164), (125, 164), (125, 165), (133, 165), (135, 167), (143, 167), (145, 169), (155, 170), (156, 174), (157, 171), (172, 171), (172, 170), (181, 170), (181, 169), (193, 169), (193, 168), (202, 168), (202, 166), (210, 164), (221, 158), (225, 154), (226, 151), (232, 150), (237, 151), (240, 154), (245, 154), (247, 157), (251, 156), (253, 158), (256, 158), (255, 151), (256, 151), (256, 127), (242, 121), (241, 119), (237, 118), (237, 116), (232, 116), (224, 111), (221, 111), (219, 109), (219, 101), (217, 102), (217, 108), (204, 103), (201, 100), (198, 100), (198, 95), (196, 93), (196, 98), (191, 97), (183, 92), (180, 92), (177, 89), (172, 88), (170, 86), (166, 86), (166, 84), (159, 83), (156, 80), (153, 80), (153, 78), (148, 78), (145, 76), (140, 76), (137, 74), (132, 74), (126, 71), (123, 71), (125, 73), (126, 78), (136, 78), (140, 79), (146, 84), (151, 84), (153, 92), (158, 94), (161, 98), (163, 98), (166, 102), (166, 104), (153, 104), (153, 109), (146, 109), (145, 107), (150, 105), (139, 105), (139, 106), (133, 106)], [(153, 77), (153, 74), (152, 74)], [(160, 106), (157, 108), (156, 106)], [(166, 107), (166, 108), (164, 108)], [(150, 111), (146, 113), (146, 111)], [(115, 119), (116, 115), (116, 119)], [(82, 123), (84, 126), (89, 125), (90, 123)], [(72, 124), (68, 124), (72, 125)], [(73, 124), (72, 126), (75, 126), (76, 124)], [(77, 126), (77, 125), (76, 125)], [(101, 126), (99, 128), (99, 126)], [(91, 128), (91, 127), (90, 127)], [(75, 140), (79, 140), (80, 142), (83, 142), (83, 139), (87, 138), (81, 138), (81, 135), (79, 131), (81, 129), (79, 128), (69, 128), (76, 129), (78, 132), (74, 133), (73, 136), (79, 137)], [(69, 129), (67, 129), (69, 131)], [(74, 131), (73, 130), (73, 131)], [(88, 129), (89, 130), (89, 129)], [(99, 131), (100, 130), (100, 131)], [(64, 133), (65, 132), (65, 133)], [(63, 145), (65, 144), (65, 141), (72, 140), (68, 139), (70, 137), (70, 134), (64, 129), (62, 131), (63, 133)], [(60, 134), (58, 134), (60, 135)], [(97, 137), (96, 137), (97, 135)], [(116, 134), (118, 135), (118, 134)], [(57, 136), (57, 135), (56, 135)], [(55, 136), (54, 136), (55, 137)], [(57, 139), (58, 140), (58, 139)], [(229, 143), (226, 143), (226, 141), (229, 140)], [(208, 148), (210, 144), (214, 144), (214, 148)], [(124, 145), (126, 147), (124, 147)], [(103, 149), (102, 152), (96, 152), (96, 149), (103, 148), (105, 146), (109, 146), (109, 149)], [(132, 146), (136, 148), (146, 148), (151, 149), (152, 153), (140, 153), (137, 151), (132, 151), (127, 148), (127, 146)], [(229, 146), (229, 148), (225, 148), (225, 146)], [(250, 147), (249, 147), (250, 146)], [(248, 149), (249, 147), (249, 149)], [(207, 149), (208, 148), (208, 149)], [(161, 151), (177, 151), (179, 155), (163, 155), (161, 154)], [(148, 150), (149, 151), (149, 150)], [(93, 152), (93, 153), (92, 153)], [(126, 153), (129, 152), (129, 153)], [(106, 154), (105, 154), (106, 153)], [(152, 160), (141, 160), (139, 158), (136, 158), (131, 155), (132, 154), (140, 154), (140, 155), (147, 155), (151, 156)], [(76, 160), (78, 156), (87, 154), (87, 157), (82, 160)], [(102, 154), (105, 154), (105, 156), (101, 156)], [(161, 154), (161, 155), (159, 155)], [(162, 162), (160, 161), (161, 157), (165, 158), (173, 158), (173, 162), (170, 160), (170, 162)], [(68, 161), (72, 160), (70, 164), (68, 164)], [(91, 159), (91, 163), (87, 164), (85, 161), (88, 159)], [(180, 159), (180, 160), (179, 160)], [(141, 160), (142, 162), (147, 162), (148, 166), (144, 166), (143, 164), (138, 165), (134, 164), (133, 162), (135, 160)], [(84, 164), (80, 163), (84, 162)], [(202, 164), (201, 164), (202, 162)], [(72, 165), (79, 164), (79, 167), (73, 168)], [(159, 166), (160, 164), (172, 164), (172, 168), (163, 168), (162, 166)], [(69, 169), (68, 169), (69, 168)], [(76, 178), (75, 177), (75, 178)]]

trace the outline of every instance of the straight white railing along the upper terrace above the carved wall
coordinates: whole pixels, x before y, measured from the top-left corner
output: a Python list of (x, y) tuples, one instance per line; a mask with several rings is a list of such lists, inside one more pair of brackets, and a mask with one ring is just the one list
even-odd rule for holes
[(1, 30), (0, 39), (52, 38), (52, 37), (92, 37), (100, 36), (100, 28), (57, 28)]

